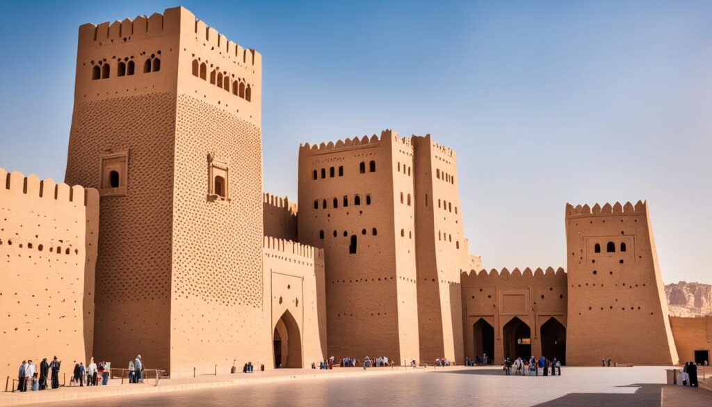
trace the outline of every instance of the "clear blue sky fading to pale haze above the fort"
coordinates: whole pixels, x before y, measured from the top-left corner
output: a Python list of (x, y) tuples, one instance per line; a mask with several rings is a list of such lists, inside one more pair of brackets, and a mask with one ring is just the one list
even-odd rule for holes
[[(4, 4), (0, 167), (63, 179), (80, 24), (177, 5)], [(485, 267), (565, 267), (566, 202), (647, 199), (665, 282), (712, 283), (712, 2), (182, 5), (263, 55), (267, 191), (299, 143), (431, 133)]]

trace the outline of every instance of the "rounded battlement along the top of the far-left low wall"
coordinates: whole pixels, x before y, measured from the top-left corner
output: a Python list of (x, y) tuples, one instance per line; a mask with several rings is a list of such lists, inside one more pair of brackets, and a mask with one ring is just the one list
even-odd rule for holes
[[(85, 188), (81, 185), (67, 185), (64, 182), (56, 183), (51, 178), (40, 180), (36, 175), (24, 176), (22, 172), (7, 172), (0, 168), (0, 195), (29, 195), (41, 200), (54, 200), (57, 202), (82, 202), (84, 206), (99, 205), (99, 191), (94, 188)], [(75, 205), (75, 204), (73, 204)]]

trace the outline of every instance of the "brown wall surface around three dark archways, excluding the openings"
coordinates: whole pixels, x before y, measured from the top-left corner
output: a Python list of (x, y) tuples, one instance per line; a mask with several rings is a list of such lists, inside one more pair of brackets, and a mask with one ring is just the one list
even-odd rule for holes
[[(526, 268), (523, 272), (519, 269), (512, 272), (508, 269), (472, 270), (461, 274), (461, 284), (465, 356), (482, 356), (482, 346), (476, 343), (474, 329), (480, 320), (493, 327), (495, 364), (502, 364), (505, 357), (527, 356), (513, 352), (512, 338), (506, 335), (505, 327), (515, 318), (530, 329), (531, 355), (528, 356), (543, 354), (541, 329), (550, 319), (564, 326), (567, 334), (570, 332), (567, 326), (567, 274), (561, 268), (534, 271)], [(544, 356), (552, 359), (549, 354)]]

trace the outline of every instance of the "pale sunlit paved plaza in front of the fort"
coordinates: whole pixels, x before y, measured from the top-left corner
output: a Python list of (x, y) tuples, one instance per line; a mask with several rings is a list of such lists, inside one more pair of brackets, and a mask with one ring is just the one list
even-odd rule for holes
[[(712, 406), (706, 388), (668, 386), (664, 367), (565, 367), (562, 376), (504, 376), (498, 367), (290, 369), (53, 391), (54, 406)], [(702, 372), (700, 372), (702, 373)], [(94, 392), (101, 397), (78, 400)], [(46, 393), (46, 392), (43, 392)], [(51, 394), (0, 395), (43, 405)], [(57, 397), (62, 395), (65, 401)], [(16, 396), (9, 398), (7, 396)], [(45, 398), (36, 398), (45, 396)], [(43, 403), (33, 404), (33, 397)]]

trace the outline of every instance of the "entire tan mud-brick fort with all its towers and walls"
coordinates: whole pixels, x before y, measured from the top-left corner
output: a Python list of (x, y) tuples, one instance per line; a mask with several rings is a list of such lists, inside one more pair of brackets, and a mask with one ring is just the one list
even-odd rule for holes
[(430, 135), (306, 143), (298, 200), (264, 193), (261, 75), (182, 7), (80, 26), (65, 183), (0, 170), (3, 377), (54, 355), (180, 377), (710, 348), (710, 318), (669, 317), (645, 202), (566, 205), (567, 272), (487, 272)]

